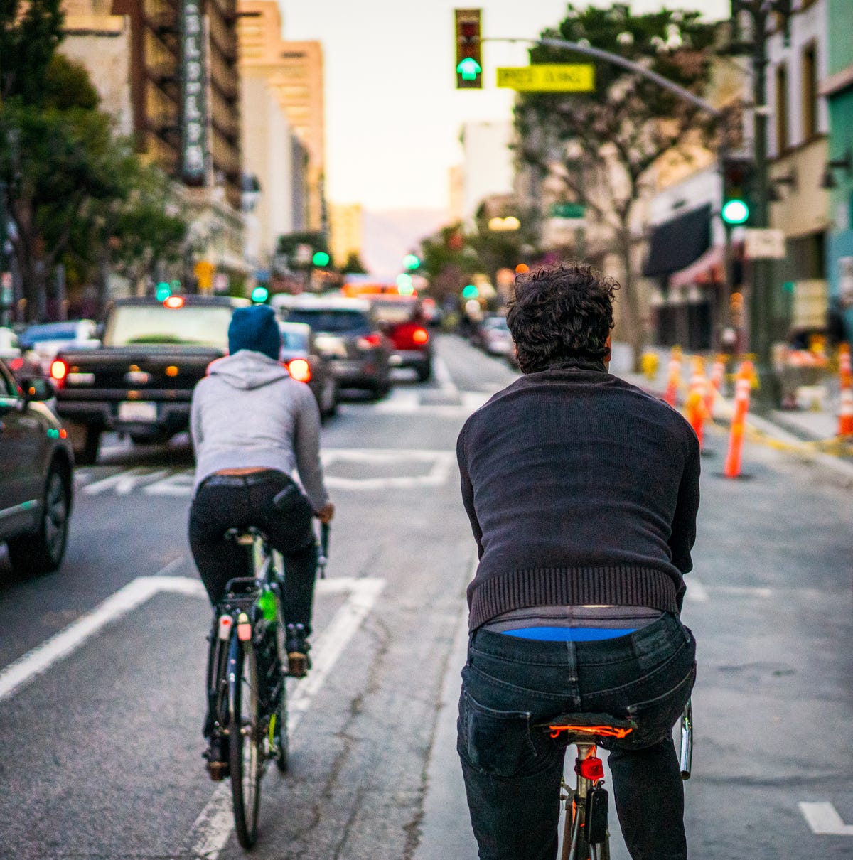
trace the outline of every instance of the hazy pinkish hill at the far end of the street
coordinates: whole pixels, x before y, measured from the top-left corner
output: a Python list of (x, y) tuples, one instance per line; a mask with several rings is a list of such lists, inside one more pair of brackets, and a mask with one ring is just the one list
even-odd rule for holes
[(371, 274), (393, 278), (402, 270), (402, 258), (417, 248), (420, 239), (449, 220), (444, 209), (365, 210), (361, 259)]

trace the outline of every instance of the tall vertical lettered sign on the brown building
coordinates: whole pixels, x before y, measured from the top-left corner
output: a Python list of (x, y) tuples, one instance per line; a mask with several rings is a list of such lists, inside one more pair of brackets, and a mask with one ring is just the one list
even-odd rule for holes
[(183, 0), (181, 14), (181, 175), (204, 185), (207, 175), (207, 69), (201, 0)]

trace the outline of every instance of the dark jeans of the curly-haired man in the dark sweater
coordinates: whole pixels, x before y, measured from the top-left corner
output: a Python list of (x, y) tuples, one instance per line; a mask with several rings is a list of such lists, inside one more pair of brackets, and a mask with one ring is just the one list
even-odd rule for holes
[(672, 726), (696, 678), (696, 642), (665, 615), (599, 642), (534, 642), (476, 630), (462, 672), (457, 752), (482, 860), (553, 860), (565, 746), (531, 728), (564, 713), (635, 718), (606, 740), (634, 860), (684, 860), (684, 789)]

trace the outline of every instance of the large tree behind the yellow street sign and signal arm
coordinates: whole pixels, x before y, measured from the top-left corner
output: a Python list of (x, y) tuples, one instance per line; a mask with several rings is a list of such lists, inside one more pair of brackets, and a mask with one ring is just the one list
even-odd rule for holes
[[(697, 94), (709, 79), (715, 28), (699, 13), (663, 9), (633, 15), (627, 3), (577, 9), (543, 37), (581, 42), (619, 54)], [(579, 52), (536, 46), (531, 63), (589, 62)], [(596, 63), (588, 94), (524, 94), (515, 110), (522, 163), (541, 178), (562, 182), (563, 198), (586, 205), (587, 218), (606, 228), (607, 246), (623, 267), (623, 336), (639, 356), (646, 338), (632, 251), (631, 223), (654, 163), (673, 147), (705, 141), (709, 117), (669, 90), (621, 66)]]

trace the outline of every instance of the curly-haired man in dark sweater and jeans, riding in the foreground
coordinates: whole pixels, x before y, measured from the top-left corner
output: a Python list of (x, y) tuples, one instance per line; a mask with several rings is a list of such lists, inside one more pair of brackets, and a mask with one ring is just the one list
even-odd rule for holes
[(617, 284), (580, 264), (516, 282), (524, 376), (465, 423), (462, 496), (480, 563), (457, 748), (482, 860), (552, 860), (561, 712), (634, 717), (606, 742), (635, 860), (682, 860), (672, 726), (696, 675), (679, 620), (692, 567), (699, 445), (672, 408), (607, 371)]

